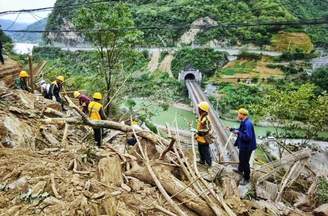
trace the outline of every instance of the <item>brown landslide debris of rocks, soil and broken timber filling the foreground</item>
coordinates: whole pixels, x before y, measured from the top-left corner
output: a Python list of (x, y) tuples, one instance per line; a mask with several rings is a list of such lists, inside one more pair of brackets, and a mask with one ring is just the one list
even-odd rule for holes
[(107, 148), (97, 148), (88, 118), (66, 117), (57, 102), (2, 81), (0, 116), (0, 215), (311, 215), (320, 205), (315, 179), (327, 177), (324, 166), (316, 176), (306, 170), (311, 150), (302, 149), (257, 167), (253, 184), (240, 188), (233, 165), (207, 172), (179, 139), (169, 147), (150, 131), (127, 146), (132, 127), (112, 121), (104, 125)]

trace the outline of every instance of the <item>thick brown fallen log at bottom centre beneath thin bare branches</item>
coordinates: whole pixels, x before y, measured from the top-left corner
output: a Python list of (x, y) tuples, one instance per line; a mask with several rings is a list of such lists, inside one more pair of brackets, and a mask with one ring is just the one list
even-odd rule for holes
[[(180, 202), (185, 202), (189, 199), (197, 197), (197, 193), (194, 190), (191, 188), (185, 189), (187, 185), (171, 174), (169, 170), (172, 167), (159, 164), (153, 165), (152, 168), (163, 188), (171, 196), (177, 193), (177, 195), (175, 195), (175, 199), (179, 200)], [(154, 180), (149, 174), (147, 167), (140, 167), (136, 162), (133, 164), (132, 169), (126, 171), (124, 174), (126, 176), (131, 176), (139, 179), (140, 181), (156, 186)], [(181, 192), (178, 193), (179, 191)], [(200, 215), (214, 215), (213, 210), (200, 197), (188, 201), (185, 203), (185, 205)]]

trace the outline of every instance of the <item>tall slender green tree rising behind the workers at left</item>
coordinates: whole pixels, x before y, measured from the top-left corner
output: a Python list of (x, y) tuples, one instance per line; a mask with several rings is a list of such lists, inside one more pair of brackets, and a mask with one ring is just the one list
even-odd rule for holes
[[(78, 30), (135, 27), (129, 9), (123, 3), (117, 3), (115, 6), (92, 4), (88, 8), (80, 9), (73, 18), (73, 23)], [(116, 95), (117, 80), (127, 75), (122, 73), (122, 60), (124, 57), (129, 57), (125, 58), (127, 61), (132, 60), (135, 55), (134, 48), (140, 42), (141, 32), (108, 30), (84, 31), (79, 34), (98, 50), (101, 62), (95, 67), (95, 71), (105, 80), (105, 102), (110, 102), (110, 96)]]

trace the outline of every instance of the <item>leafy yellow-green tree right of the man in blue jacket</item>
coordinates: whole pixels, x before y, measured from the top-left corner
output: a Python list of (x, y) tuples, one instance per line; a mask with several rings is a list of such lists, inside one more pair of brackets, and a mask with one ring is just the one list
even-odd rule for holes
[[(301, 85), (298, 90), (277, 90), (274, 88), (265, 89), (263, 92), (262, 102), (252, 106), (253, 112), (256, 114), (256, 121), (265, 120), (270, 122), (275, 129), (275, 137), (278, 142), (285, 144), (287, 133), (291, 129), (308, 128), (307, 134), (309, 139), (316, 134), (319, 128), (314, 127), (312, 115), (317, 115), (316, 121), (324, 121), (325, 117), (318, 113), (313, 113), (312, 109), (320, 107), (320, 110), (326, 110), (324, 99), (320, 103), (316, 103), (313, 91), (315, 86), (312, 84)], [(315, 105), (314, 105), (315, 104)], [(318, 112), (318, 111), (317, 111)], [(296, 125), (305, 125), (298, 126)], [(318, 126), (318, 125), (317, 125)], [(279, 128), (282, 132), (279, 133)], [(320, 127), (322, 129), (322, 127)], [(279, 155), (282, 156), (284, 148), (279, 145)]]

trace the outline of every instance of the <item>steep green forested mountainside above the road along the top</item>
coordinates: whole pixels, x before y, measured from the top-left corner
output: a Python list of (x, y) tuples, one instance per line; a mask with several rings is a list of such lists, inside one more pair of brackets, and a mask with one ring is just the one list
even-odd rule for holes
[[(55, 6), (81, 2), (83, 1), (57, 0)], [(117, 3), (113, 1), (113, 3), (108, 4), (112, 4), (114, 7), (114, 4)], [(195, 24), (195, 21), (196, 24), (211, 22), (232, 24), (328, 17), (327, 3), (319, 0), (140, 0), (137, 3), (127, 1), (125, 4), (131, 9), (137, 27), (189, 25), (192, 23)], [(49, 16), (46, 29), (59, 30), (74, 28), (71, 20), (77, 13), (77, 10), (54, 10)], [(205, 45), (209, 42), (217, 46), (234, 46), (251, 43), (261, 47), (272, 44), (273, 36), (279, 32), (304, 32), (310, 36), (315, 46), (323, 46), (324, 44), (328, 44), (327, 28), (326, 25), (213, 28), (202, 29), (196, 32), (196, 37), (192, 38), (192, 40), (198, 45)], [(180, 42), (181, 36), (186, 31), (188, 30), (144, 30), (144, 42), (145, 45), (151, 46), (175, 46)], [(46, 37), (46, 35), (44, 36)], [(74, 37), (72, 34), (69, 34), (69, 36), (61, 33), (49, 34), (47, 38), (48, 42), (51, 39), (52, 42), (70, 45), (76, 45), (81, 42), (78, 37)], [(190, 41), (187, 40), (187, 42)]]

